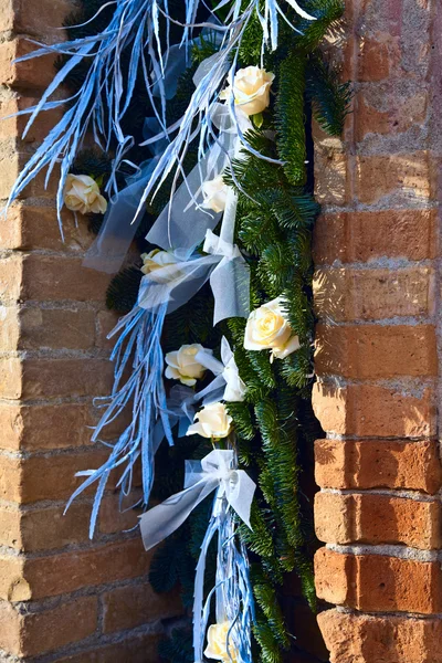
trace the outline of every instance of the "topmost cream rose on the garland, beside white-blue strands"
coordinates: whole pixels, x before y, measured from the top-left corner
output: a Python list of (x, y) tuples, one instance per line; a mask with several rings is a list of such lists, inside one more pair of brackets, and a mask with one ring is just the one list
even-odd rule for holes
[(267, 108), (270, 104), (270, 88), (275, 75), (259, 66), (246, 66), (239, 70), (233, 80), (220, 94), (221, 99), (228, 99), (232, 92), (234, 103), (245, 115), (256, 115)]

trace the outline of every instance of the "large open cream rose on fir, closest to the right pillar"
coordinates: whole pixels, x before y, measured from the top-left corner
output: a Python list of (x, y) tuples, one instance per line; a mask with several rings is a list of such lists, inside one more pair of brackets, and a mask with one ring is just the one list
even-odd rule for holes
[(273, 360), (299, 349), (299, 338), (293, 334), (282, 306), (283, 299), (277, 297), (250, 314), (244, 335), (246, 350), (270, 349)]

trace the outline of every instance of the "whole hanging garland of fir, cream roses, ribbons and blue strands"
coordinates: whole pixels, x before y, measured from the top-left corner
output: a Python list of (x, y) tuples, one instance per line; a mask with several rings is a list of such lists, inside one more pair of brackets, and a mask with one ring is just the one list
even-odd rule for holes
[[(176, 634), (162, 654), (276, 663), (291, 645), (277, 596), (284, 575), (296, 569), (315, 601), (298, 490), (318, 213), (305, 114), (341, 130), (348, 86), (317, 48), (343, 6), (87, 6), (71, 41), (31, 54), (63, 55), (30, 124), (60, 105), (49, 97), (63, 81), (76, 93), (11, 193), (61, 162), (59, 212), (88, 214), (99, 230), (86, 264), (117, 271), (134, 238), (141, 252), (140, 266), (109, 287), (108, 305), (125, 316), (93, 440), (127, 408), (131, 420), (72, 499), (97, 485), (93, 536), (110, 473), (118, 469), (128, 495), (140, 464), (138, 506), (166, 497), (140, 520), (147, 549), (169, 537), (151, 582), (166, 591), (180, 581), (193, 608), (191, 653)], [(102, 152), (81, 149), (91, 129)], [(186, 464), (181, 490), (188, 453), (200, 460)]]

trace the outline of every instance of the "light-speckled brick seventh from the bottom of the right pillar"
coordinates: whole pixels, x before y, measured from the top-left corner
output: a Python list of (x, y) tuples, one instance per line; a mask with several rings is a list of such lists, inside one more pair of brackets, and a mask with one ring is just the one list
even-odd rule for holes
[(316, 272), (314, 292), (320, 319), (418, 317), (433, 312), (434, 272), (430, 267), (322, 269)]

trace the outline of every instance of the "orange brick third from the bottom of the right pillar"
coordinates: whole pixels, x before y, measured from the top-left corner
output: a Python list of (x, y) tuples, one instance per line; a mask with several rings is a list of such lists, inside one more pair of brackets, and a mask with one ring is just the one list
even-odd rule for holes
[(422, 550), (442, 546), (439, 502), (391, 495), (318, 493), (316, 535), (327, 544), (404, 544)]

